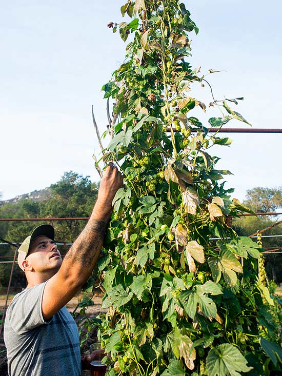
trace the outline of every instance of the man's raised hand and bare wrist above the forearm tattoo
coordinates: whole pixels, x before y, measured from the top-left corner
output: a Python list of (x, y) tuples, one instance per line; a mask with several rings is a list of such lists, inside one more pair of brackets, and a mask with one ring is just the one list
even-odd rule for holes
[(106, 168), (105, 174), (100, 182), (97, 202), (93, 214), (99, 216), (106, 214), (109, 219), (112, 213), (112, 202), (114, 196), (119, 188), (123, 186), (122, 174), (114, 167), (113, 163), (109, 163)]

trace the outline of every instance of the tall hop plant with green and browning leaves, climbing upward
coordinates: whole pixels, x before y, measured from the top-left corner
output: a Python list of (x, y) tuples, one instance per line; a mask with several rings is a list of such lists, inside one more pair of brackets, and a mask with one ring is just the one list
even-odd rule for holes
[(220, 182), (230, 172), (216, 169), (209, 153), (214, 144), (230, 144), (210, 126), (247, 123), (231, 108), (242, 98), (212, 98), (223, 116), (201, 123), (193, 109), (206, 105), (190, 90), (207, 81), (186, 61), (188, 33), (198, 28), (185, 5), (129, 0), (121, 12), (131, 21), (108, 26), (124, 41), (133, 38), (103, 88), (113, 99), (104, 161), (115, 161), (126, 182), (98, 263), (109, 308), (99, 329), (111, 354), (107, 374), (278, 371), (280, 328), (256, 276), (260, 248), (229, 225), (248, 209), (231, 200)]

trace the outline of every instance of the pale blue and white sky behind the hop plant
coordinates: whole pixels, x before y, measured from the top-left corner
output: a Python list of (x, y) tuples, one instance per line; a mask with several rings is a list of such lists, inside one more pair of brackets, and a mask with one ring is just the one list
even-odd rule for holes
[[(125, 2), (125, 1), (124, 1)], [(199, 34), (190, 34), (190, 62), (222, 70), (209, 76), (218, 99), (244, 96), (235, 110), (254, 128), (282, 128), (282, 29), (278, 0), (184, 1)], [(0, 192), (2, 200), (42, 189), (65, 171), (99, 177), (92, 155), (99, 148), (91, 106), (101, 133), (106, 100), (101, 88), (123, 62), (126, 44), (107, 28), (123, 21), (119, 0), (14, 0), (2, 2), (0, 22)], [(191, 96), (211, 102), (207, 87)], [(219, 116), (194, 112), (200, 120)], [(232, 121), (228, 127), (248, 125)], [(256, 186), (281, 186), (282, 134), (225, 134), (231, 147), (211, 149), (226, 186), (243, 200)]]

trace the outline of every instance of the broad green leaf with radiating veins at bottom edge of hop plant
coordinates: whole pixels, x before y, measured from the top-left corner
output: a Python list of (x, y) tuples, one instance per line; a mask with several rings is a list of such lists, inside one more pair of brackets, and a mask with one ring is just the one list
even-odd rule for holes
[(206, 362), (209, 376), (240, 376), (248, 372), (247, 360), (233, 345), (224, 343), (209, 351)]

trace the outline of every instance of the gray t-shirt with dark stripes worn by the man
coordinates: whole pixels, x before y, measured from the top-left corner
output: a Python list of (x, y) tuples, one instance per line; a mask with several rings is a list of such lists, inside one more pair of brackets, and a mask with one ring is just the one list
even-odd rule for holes
[(46, 282), (15, 295), (6, 313), (4, 341), (10, 376), (80, 376), (78, 329), (66, 307), (48, 322), (42, 314)]

